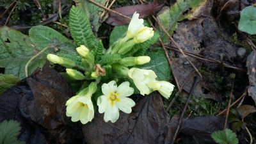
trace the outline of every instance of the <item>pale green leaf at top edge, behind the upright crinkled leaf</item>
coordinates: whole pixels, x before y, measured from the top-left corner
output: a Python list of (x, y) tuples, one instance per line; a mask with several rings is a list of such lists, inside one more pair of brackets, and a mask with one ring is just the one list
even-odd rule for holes
[[(90, 3), (89, 1), (83, 1), (83, 0), (74, 0), (76, 4), (78, 4), (78, 8), (81, 10), (81, 12), (84, 12), (87, 17), (89, 17), (90, 22), (92, 24), (93, 32), (97, 33), (100, 25), (102, 22), (107, 19), (108, 15), (105, 15), (103, 17), (102, 22), (99, 22), (100, 15), (104, 11), (103, 8), (100, 8), (99, 6)], [(106, 3), (106, 0), (94, 0), (96, 3), (99, 3), (100, 5), (104, 6)]]

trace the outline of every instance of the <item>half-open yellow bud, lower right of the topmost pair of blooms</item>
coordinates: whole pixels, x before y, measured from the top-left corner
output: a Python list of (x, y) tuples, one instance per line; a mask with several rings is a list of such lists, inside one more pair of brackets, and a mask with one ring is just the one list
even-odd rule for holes
[(136, 36), (133, 38), (133, 41), (138, 44), (141, 42), (145, 42), (146, 40), (152, 38), (154, 36), (153, 28), (148, 28), (145, 26), (144, 28), (140, 29)]

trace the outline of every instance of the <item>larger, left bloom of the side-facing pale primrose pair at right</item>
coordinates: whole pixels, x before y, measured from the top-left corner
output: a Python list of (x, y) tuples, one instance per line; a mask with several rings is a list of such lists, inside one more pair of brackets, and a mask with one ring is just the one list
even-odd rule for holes
[(161, 84), (156, 81), (156, 74), (153, 70), (143, 70), (140, 68), (131, 68), (128, 72), (135, 86), (140, 90), (141, 95), (160, 90)]

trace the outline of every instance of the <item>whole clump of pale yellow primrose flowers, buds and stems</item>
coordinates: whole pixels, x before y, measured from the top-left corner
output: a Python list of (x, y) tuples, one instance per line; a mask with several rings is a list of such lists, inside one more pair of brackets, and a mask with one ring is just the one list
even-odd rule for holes
[[(104, 121), (116, 122), (119, 111), (131, 113), (135, 102), (129, 98), (134, 88), (141, 95), (158, 91), (168, 99), (174, 85), (167, 81), (157, 81), (153, 70), (136, 68), (150, 61), (148, 56), (125, 56), (135, 44), (140, 44), (152, 38), (154, 31), (143, 25), (143, 19), (134, 13), (123, 38), (117, 40), (105, 52), (88, 49), (84, 45), (76, 48), (79, 56), (48, 54), (47, 59), (66, 67), (69, 78), (86, 81), (83, 88), (66, 102), (67, 116), (73, 122), (82, 124), (91, 122), (98, 106), (99, 113), (104, 113)], [(129, 79), (124, 81), (124, 79)], [(135, 85), (133, 88), (131, 84)], [(119, 86), (118, 86), (119, 84)], [(99, 92), (102, 94), (98, 94)], [(93, 100), (97, 102), (93, 106)]]

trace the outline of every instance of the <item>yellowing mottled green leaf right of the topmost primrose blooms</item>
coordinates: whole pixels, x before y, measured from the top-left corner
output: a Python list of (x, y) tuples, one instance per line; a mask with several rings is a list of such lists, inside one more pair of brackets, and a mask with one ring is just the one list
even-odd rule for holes
[[(178, 22), (183, 19), (187, 19), (188, 15), (184, 15), (183, 13), (186, 10), (194, 10), (201, 3), (204, 3), (205, 0), (177, 0), (175, 4), (173, 4), (170, 8), (164, 7), (165, 9), (161, 10), (161, 12), (157, 15), (157, 20), (162, 24), (164, 29), (172, 35), (173, 31), (177, 28)], [(160, 26), (157, 26), (157, 32), (161, 36), (161, 39), (164, 44), (168, 44), (168, 36), (164, 33), (163, 29)]]

